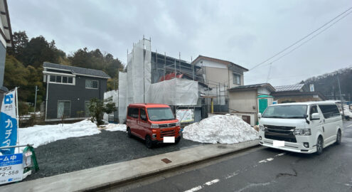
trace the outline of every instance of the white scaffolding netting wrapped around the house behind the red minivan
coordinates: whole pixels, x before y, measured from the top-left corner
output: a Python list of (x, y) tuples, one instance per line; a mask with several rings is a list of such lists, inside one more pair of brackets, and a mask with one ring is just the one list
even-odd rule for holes
[(127, 55), (127, 73), (119, 73), (119, 90), (107, 92), (119, 110), (119, 122), (126, 120), (131, 103), (162, 103), (166, 105), (197, 105), (198, 82), (174, 78), (151, 84), (151, 43), (135, 43)]

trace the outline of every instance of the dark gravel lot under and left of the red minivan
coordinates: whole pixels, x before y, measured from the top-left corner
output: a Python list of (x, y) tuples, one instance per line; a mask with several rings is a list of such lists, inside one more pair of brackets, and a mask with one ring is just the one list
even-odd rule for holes
[(102, 130), (100, 134), (68, 138), (38, 146), (35, 151), (40, 170), (24, 181), (164, 154), (200, 144), (181, 139), (178, 144), (161, 144), (148, 149), (144, 146), (144, 141), (137, 137), (129, 138), (126, 132)]

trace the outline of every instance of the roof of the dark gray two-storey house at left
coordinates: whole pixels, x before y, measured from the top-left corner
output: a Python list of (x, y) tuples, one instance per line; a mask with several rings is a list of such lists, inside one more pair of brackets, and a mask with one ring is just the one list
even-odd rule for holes
[(47, 62), (43, 63), (43, 68), (54, 68), (57, 70), (70, 70), (73, 75), (93, 76), (97, 78), (110, 78), (110, 76), (107, 75), (102, 70), (78, 68), (78, 67), (73, 67), (68, 65), (60, 65), (60, 64), (47, 63)]

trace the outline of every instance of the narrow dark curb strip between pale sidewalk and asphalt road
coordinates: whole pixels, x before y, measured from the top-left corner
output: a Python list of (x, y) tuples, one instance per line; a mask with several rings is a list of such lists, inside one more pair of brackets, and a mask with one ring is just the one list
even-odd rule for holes
[[(245, 147), (242, 147), (242, 148), (239, 148), (239, 149), (233, 149), (231, 151), (226, 151), (226, 152), (223, 152), (223, 153), (215, 154), (213, 156), (203, 157), (201, 159), (198, 159), (197, 161), (190, 161), (190, 162), (185, 162), (185, 163), (182, 163), (182, 164), (176, 164), (174, 166), (169, 166), (169, 167), (166, 167), (166, 168), (163, 168), (163, 169), (158, 169), (158, 170), (151, 171), (150, 173), (139, 174), (139, 175), (136, 175), (136, 176), (120, 179), (119, 181), (114, 181), (114, 182), (109, 182), (109, 183), (102, 183), (101, 185), (92, 186), (92, 187), (89, 187), (89, 188), (84, 188), (84, 189), (79, 190), (79, 191), (102, 191), (102, 190), (106, 190), (108, 188), (115, 188), (117, 186), (122, 186), (122, 185), (127, 184), (127, 183), (132, 183), (132, 182), (134, 182), (136, 180), (140, 180), (140, 179), (143, 179), (143, 178), (148, 178), (148, 177), (151, 177), (151, 176), (157, 176), (159, 174), (164, 174), (166, 172), (174, 171), (176, 169), (184, 168), (186, 166), (192, 166), (192, 165), (195, 165), (195, 164), (201, 164), (201, 163), (203, 163), (205, 161), (210, 161), (210, 160), (213, 160), (213, 159), (217, 159), (219, 157), (228, 156), (228, 155), (231, 155), (231, 154), (238, 153), (240, 151), (245, 151), (245, 150), (249, 150), (249, 149), (252, 149), (254, 147), (260, 146), (259, 140), (255, 140), (255, 141), (257, 141), (256, 144), (254, 143), (254, 144), (250, 144), (248, 146), (245, 146)], [(255, 142), (255, 141), (252, 141), (252, 142)], [(226, 144), (218, 144), (218, 145), (219, 146), (225, 146)]]

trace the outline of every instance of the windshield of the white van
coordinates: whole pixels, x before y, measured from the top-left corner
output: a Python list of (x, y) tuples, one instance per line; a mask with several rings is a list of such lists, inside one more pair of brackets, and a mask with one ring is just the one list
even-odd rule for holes
[(307, 105), (273, 105), (267, 107), (262, 117), (266, 118), (305, 118)]

